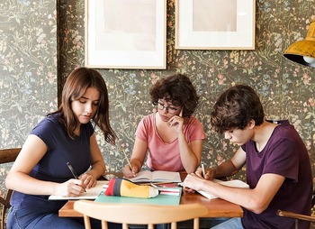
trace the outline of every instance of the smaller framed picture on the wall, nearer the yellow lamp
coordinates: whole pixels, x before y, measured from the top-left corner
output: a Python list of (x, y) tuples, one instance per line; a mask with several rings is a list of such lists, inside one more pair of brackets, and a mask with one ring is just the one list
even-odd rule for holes
[(176, 0), (175, 49), (254, 50), (255, 0)]

